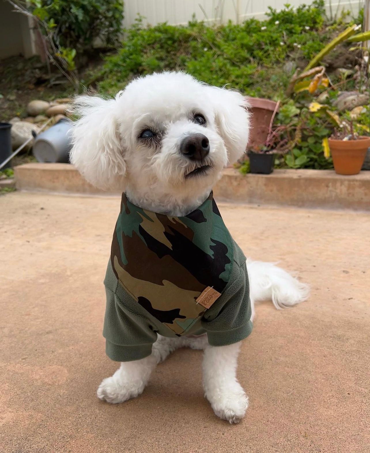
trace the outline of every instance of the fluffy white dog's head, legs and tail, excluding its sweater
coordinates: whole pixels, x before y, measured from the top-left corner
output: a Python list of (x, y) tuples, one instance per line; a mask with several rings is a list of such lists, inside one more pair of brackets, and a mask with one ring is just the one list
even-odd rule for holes
[[(76, 111), (72, 164), (93, 185), (119, 188), (135, 206), (168, 216), (186, 216), (202, 205), (248, 142), (245, 98), (182, 72), (137, 78), (115, 99), (81, 96)], [(251, 320), (258, 300), (284, 308), (308, 297), (307, 285), (275, 265), (247, 260), (247, 269)], [(101, 400), (120, 403), (140, 395), (155, 366), (187, 346), (204, 350), (203, 387), (215, 414), (230, 423), (244, 417), (248, 397), (236, 379), (240, 342), (211, 346), (206, 334), (156, 337), (149, 356), (121, 362), (101, 382)]]

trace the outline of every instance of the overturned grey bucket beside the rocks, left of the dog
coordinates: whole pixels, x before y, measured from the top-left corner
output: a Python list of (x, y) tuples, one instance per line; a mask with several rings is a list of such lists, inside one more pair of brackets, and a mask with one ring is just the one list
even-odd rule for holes
[(38, 162), (69, 162), (72, 148), (73, 122), (62, 118), (57, 124), (39, 134), (34, 142), (33, 154)]

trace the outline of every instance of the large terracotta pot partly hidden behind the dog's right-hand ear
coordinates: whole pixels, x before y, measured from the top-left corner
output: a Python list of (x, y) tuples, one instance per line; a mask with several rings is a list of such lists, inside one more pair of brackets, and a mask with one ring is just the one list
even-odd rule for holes
[(248, 149), (258, 148), (267, 140), (271, 118), (274, 114), (276, 102), (259, 97), (248, 97), (250, 104), (251, 126)]

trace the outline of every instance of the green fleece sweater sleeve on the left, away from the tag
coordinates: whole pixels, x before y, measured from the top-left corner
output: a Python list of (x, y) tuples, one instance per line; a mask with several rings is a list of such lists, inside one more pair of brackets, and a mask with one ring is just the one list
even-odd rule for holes
[(106, 355), (121, 362), (149, 356), (157, 339), (149, 320), (127, 308), (107, 287), (103, 336), (106, 338)]

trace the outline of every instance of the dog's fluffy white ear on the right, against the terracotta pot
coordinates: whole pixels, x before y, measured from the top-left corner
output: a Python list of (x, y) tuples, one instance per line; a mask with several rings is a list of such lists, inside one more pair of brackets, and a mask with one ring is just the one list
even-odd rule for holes
[(225, 88), (209, 87), (216, 111), (216, 125), (225, 142), (228, 163), (233, 164), (245, 153), (249, 138), (248, 102), (240, 93)]

